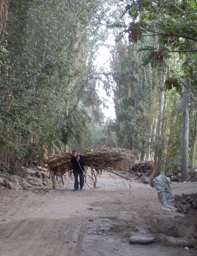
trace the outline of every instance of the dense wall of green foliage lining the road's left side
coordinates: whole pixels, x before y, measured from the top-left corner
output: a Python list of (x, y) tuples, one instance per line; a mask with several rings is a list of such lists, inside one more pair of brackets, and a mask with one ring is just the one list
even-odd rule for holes
[[(13, 0), (0, 44), (0, 164), (80, 143), (100, 101), (93, 60), (106, 1)], [(93, 93), (93, 91), (95, 93)], [(90, 112), (91, 111), (91, 112)], [(15, 165), (15, 163), (14, 163)]]

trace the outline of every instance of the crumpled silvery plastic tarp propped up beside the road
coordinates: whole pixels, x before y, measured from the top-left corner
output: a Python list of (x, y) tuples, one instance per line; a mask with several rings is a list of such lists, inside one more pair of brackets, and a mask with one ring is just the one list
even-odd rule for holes
[(166, 202), (174, 201), (169, 177), (161, 174), (152, 180), (152, 184), (153, 187), (156, 188), (159, 201), (163, 205), (166, 205)]

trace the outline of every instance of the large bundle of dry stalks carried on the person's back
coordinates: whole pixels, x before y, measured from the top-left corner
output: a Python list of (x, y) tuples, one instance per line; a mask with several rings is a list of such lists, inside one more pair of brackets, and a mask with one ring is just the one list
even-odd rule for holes
[[(129, 178), (122, 175), (122, 172), (128, 169), (129, 163), (136, 161), (133, 151), (124, 148), (99, 147), (95, 150), (87, 151), (82, 156), (85, 160), (85, 183), (88, 177), (93, 182), (94, 188), (96, 188), (97, 177), (105, 171), (129, 180)], [(63, 182), (63, 177), (68, 173), (72, 178), (73, 166), (70, 160), (71, 157), (71, 153), (62, 153), (52, 155), (48, 159), (47, 165), (50, 177), (52, 177), (53, 188), (55, 187), (55, 177), (60, 177)], [(88, 168), (91, 174), (87, 172)]]

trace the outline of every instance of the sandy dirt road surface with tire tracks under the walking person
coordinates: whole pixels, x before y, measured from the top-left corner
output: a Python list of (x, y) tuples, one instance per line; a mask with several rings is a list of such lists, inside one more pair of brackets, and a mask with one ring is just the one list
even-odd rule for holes
[[(18, 192), (0, 186), (0, 255), (197, 255), (197, 210), (188, 215), (191, 225), (182, 213), (164, 211), (156, 189), (133, 178), (124, 186), (105, 173), (99, 188), (76, 192), (73, 184)], [(197, 192), (197, 185), (173, 183), (172, 192)], [(155, 241), (131, 244), (132, 235)]]

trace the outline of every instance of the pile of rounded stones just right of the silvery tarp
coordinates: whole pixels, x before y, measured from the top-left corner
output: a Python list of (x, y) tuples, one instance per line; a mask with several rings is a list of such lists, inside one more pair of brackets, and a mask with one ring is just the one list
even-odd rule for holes
[(180, 210), (187, 214), (190, 209), (197, 209), (197, 192), (195, 193), (182, 193), (181, 195), (175, 195), (175, 203)]

